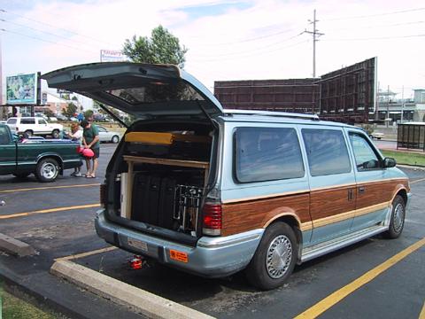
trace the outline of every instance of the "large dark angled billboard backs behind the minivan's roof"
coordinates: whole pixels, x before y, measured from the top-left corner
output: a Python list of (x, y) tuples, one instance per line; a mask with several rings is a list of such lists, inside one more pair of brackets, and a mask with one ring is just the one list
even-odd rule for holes
[(328, 121), (367, 122), (375, 113), (377, 58), (320, 78), (216, 81), (214, 95), (224, 108), (315, 113)]

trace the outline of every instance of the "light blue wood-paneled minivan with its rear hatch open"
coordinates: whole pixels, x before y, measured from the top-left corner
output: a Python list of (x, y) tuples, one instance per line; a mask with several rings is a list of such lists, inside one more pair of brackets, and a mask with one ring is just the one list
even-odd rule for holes
[(96, 63), (42, 78), (137, 119), (107, 167), (95, 225), (147, 261), (209, 277), (244, 269), (267, 290), (296, 264), (403, 230), (408, 178), (361, 128), (225, 110), (177, 66)]

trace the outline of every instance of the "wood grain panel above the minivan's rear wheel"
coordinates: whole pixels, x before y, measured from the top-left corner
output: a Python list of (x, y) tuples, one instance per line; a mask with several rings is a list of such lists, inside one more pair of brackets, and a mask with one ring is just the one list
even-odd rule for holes
[(224, 204), (223, 236), (263, 228), (279, 214), (295, 214), (299, 222), (310, 222), (310, 195), (308, 193), (249, 200), (235, 204)]

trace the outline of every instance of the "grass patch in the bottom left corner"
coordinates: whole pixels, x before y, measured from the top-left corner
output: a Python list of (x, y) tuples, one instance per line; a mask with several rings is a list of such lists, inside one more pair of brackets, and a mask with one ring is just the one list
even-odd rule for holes
[[(1, 289), (1, 287), (0, 287)], [(4, 290), (0, 292), (0, 311), (3, 319), (55, 319), (56, 315), (49, 314), (33, 306), (32, 304), (16, 298)]]

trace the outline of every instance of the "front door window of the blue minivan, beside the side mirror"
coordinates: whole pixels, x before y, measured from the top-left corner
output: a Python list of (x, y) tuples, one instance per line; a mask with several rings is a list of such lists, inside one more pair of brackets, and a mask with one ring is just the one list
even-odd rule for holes
[(356, 159), (356, 166), (359, 171), (380, 168), (380, 161), (372, 146), (364, 136), (357, 133), (350, 133), (352, 151)]

